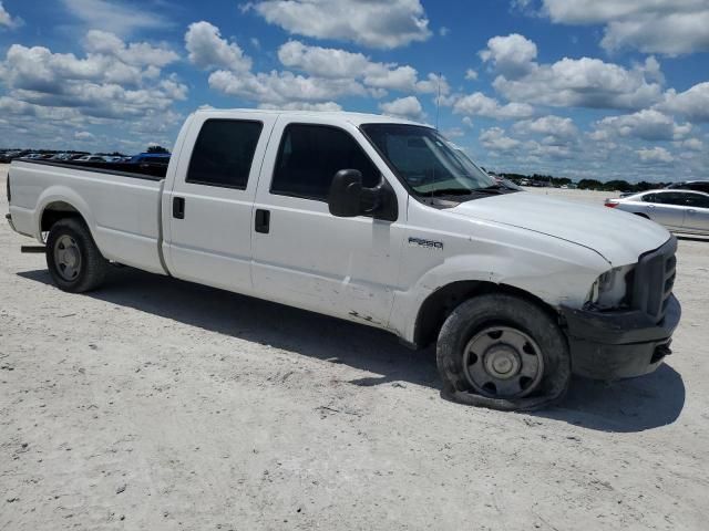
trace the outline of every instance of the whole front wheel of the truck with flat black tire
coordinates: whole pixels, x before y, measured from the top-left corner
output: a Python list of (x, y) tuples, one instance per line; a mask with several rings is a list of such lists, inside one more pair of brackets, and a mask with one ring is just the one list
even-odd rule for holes
[(571, 381), (568, 344), (541, 306), (506, 293), (458, 306), (436, 348), (443, 396), (504, 410), (530, 410), (562, 399)]

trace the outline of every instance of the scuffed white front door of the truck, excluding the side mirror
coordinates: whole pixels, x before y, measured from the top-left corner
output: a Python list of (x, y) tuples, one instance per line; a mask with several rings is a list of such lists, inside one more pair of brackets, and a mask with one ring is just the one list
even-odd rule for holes
[(323, 122), (281, 118), (274, 128), (255, 205), (254, 287), (271, 300), (386, 327), (405, 202), (399, 194), (393, 222), (331, 216), (327, 196), (337, 171), (359, 170), (364, 187), (382, 177), (376, 152), (356, 139), (353, 126)]

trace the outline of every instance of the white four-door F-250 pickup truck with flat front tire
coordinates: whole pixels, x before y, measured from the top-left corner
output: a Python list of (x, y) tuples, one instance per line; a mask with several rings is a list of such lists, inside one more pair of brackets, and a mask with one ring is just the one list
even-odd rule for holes
[(572, 373), (638, 376), (670, 353), (667, 230), (505, 189), (433, 128), (198, 111), (163, 173), (14, 162), (8, 219), (65, 291), (115, 262), (436, 342), (442, 393), (466, 404), (542, 407)]

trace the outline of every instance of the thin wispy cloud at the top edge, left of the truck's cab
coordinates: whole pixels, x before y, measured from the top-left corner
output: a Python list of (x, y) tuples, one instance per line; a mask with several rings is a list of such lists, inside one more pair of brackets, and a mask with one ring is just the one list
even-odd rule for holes
[(163, 15), (142, 10), (135, 4), (120, 0), (62, 0), (64, 7), (88, 28), (104, 30), (127, 37), (140, 30), (169, 28), (172, 23)]

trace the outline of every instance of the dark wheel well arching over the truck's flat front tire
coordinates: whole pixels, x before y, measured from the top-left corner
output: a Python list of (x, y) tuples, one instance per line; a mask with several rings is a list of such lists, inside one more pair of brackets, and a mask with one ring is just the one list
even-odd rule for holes
[(552, 306), (538, 296), (518, 288), (475, 280), (453, 282), (435, 290), (421, 304), (417, 316), (413, 343), (419, 347), (434, 343), (441, 326), (453, 310), (463, 302), (485, 293), (508, 293), (525, 299), (557, 319), (557, 312)]

